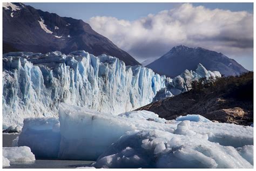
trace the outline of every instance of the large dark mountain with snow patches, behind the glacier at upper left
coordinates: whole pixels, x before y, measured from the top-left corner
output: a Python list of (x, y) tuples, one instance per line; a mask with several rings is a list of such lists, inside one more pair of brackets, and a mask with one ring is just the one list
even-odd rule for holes
[(116, 56), (130, 66), (140, 65), (81, 19), (60, 17), (22, 3), (3, 3), (3, 53), (78, 50)]

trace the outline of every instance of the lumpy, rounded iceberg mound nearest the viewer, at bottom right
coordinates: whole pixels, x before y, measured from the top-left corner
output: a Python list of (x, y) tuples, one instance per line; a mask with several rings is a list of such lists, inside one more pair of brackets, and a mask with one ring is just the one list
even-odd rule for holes
[(160, 130), (126, 133), (96, 162), (96, 168), (253, 168), (232, 146), (200, 136)]

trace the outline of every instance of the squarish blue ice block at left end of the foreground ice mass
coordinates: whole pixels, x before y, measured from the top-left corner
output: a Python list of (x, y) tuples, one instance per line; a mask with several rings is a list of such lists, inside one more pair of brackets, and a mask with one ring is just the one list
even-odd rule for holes
[[(57, 118), (26, 118), (18, 137), (18, 146), (28, 146), (37, 158), (56, 159), (60, 132)], [(14, 142), (13, 142), (14, 143)]]

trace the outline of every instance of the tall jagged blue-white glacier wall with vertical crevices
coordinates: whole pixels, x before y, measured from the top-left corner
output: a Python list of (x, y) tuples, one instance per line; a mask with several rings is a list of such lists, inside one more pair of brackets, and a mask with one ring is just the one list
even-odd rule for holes
[(199, 70), (166, 79), (149, 68), (85, 51), (4, 54), (4, 129), (26, 117), (58, 116), (61, 102), (118, 115), (151, 103), (160, 90), (165, 90), (161, 96), (187, 91), (187, 80), (210, 75), (203, 66)]

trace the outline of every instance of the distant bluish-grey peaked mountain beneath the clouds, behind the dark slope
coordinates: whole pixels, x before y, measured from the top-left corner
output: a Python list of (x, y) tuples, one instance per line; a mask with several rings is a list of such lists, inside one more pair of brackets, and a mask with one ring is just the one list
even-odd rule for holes
[(198, 63), (201, 63), (208, 70), (217, 70), (224, 76), (235, 76), (248, 72), (235, 60), (222, 53), (201, 47), (190, 48), (183, 45), (173, 47), (171, 51), (146, 67), (153, 69), (158, 74), (174, 77), (185, 69), (196, 69)]

